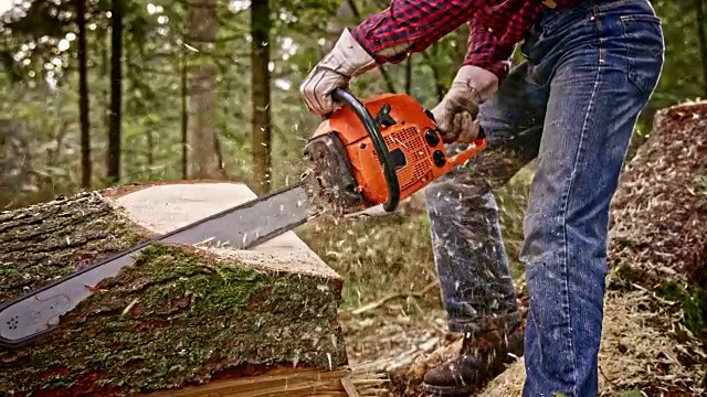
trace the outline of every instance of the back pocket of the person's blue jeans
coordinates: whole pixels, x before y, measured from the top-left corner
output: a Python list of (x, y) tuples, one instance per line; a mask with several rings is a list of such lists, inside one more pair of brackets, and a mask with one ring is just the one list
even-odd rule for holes
[(648, 96), (657, 85), (664, 62), (661, 19), (653, 14), (625, 14), (619, 18), (626, 45), (627, 78)]

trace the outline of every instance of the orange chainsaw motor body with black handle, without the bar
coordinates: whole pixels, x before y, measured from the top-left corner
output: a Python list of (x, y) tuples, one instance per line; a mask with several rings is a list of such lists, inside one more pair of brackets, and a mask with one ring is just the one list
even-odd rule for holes
[(481, 132), (465, 151), (447, 157), (432, 114), (405, 94), (359, 101), (337, 89), (333, 96), (345, 106), (319, 124), (305, 155), (320, 196), (342, 213), (379, 204), (392, 212), (401, 200), (486, 147)]

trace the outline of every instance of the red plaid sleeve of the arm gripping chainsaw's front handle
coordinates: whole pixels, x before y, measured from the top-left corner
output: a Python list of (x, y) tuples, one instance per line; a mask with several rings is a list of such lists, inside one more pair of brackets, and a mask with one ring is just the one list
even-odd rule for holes
[(386, 10), (369, 17), (351, 34), (378, 62), (399, 63), (408, 54), (422, 52), (478, 9), (473, 0), (391, 0)]

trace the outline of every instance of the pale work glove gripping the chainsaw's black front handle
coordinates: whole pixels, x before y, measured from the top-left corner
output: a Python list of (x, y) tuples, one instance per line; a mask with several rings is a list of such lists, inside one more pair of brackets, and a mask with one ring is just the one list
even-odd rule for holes
[(351, 77), (366, 73), (376, 65), (376, 60), (345, 29), (334, 49), (299, 86), (305, 106), (316, 115), (329, 114), (337, 108), (331, 99), (331, 92), (347, 88)]

